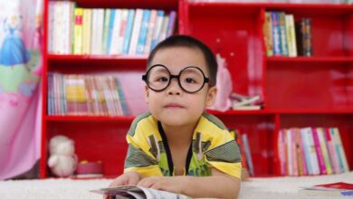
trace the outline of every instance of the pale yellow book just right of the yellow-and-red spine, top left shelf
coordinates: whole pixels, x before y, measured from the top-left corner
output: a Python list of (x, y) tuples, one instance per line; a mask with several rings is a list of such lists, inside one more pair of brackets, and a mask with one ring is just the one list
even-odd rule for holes
[(92, 10), (83, 9), (82, 54), (91, 54)]

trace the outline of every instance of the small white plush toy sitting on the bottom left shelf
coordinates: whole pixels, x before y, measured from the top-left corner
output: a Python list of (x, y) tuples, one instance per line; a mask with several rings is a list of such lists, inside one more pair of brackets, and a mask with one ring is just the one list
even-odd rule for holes
[(48, 166), (53, 174), (60, 177), (73, 174), (77, 166), (77, 156), (72, 139), (64, 136), (52, 137), (49, 143), (49, 153)]

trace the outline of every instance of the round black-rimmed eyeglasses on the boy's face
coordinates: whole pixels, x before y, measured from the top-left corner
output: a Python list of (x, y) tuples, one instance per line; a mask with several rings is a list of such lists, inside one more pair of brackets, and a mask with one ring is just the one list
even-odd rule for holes
[(173, 78), (176, 78), (180, 88), (188, 93), (196, 93), (204, 88), (205, 83), (210, 83), (209, 78), (196, 66), (187, 66), (178, 75), (172, 75), (165, 65), (156, 64), (142, 75), (142, 80), (154, 91), (166, 90)]

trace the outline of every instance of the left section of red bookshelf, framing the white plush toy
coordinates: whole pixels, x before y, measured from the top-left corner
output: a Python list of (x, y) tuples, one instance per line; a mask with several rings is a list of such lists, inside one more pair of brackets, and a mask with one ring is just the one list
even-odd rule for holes
[[(73, 0), (83, 8), (143, 8), (161, 9), (166, 13), (178, 10), (178, 1), (162, 0)], [(131, 90), (139, 88), (143, 92), (141, 74), (146, 69), (147, 55), (72, 55), (52, 54), (47, 51), (49, 0), (44, 0), (44, 44), (43, 44), (43, 133), (41, 178), (52, 176), (47, 166), (49, 140), (56, 135), (70, 137), (75, 143), (75, 153), (79, 161), (101, 161), (103, 175), (114, 177), (123, 172), (127, 152), (126, 134), (134, 115), (119, 117), (101, 116), (50, 116), (47, 114), (47, 95), (49, 72), (62, 74), (115, 73), (124, 80), (136, 80)], [(130, 80), (131, 79), (131, 80)], [(119, 79), (120, 80), (120, 79)], [(135, 81), (134, 81), (135, 82)], [(139, 100), (141, 101), (141, 100)], [(134, 106), (134, 101), (129, 106)]]

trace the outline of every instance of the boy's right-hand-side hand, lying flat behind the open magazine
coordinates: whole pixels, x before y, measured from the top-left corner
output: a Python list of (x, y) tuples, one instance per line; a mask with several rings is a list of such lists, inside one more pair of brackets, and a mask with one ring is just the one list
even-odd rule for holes
[(148, 188), (154, 188), (176, 194), (183, 194), (183, 185), (185, 181), (181, 177), (146, 177), (138, 182), (138, 185)]

